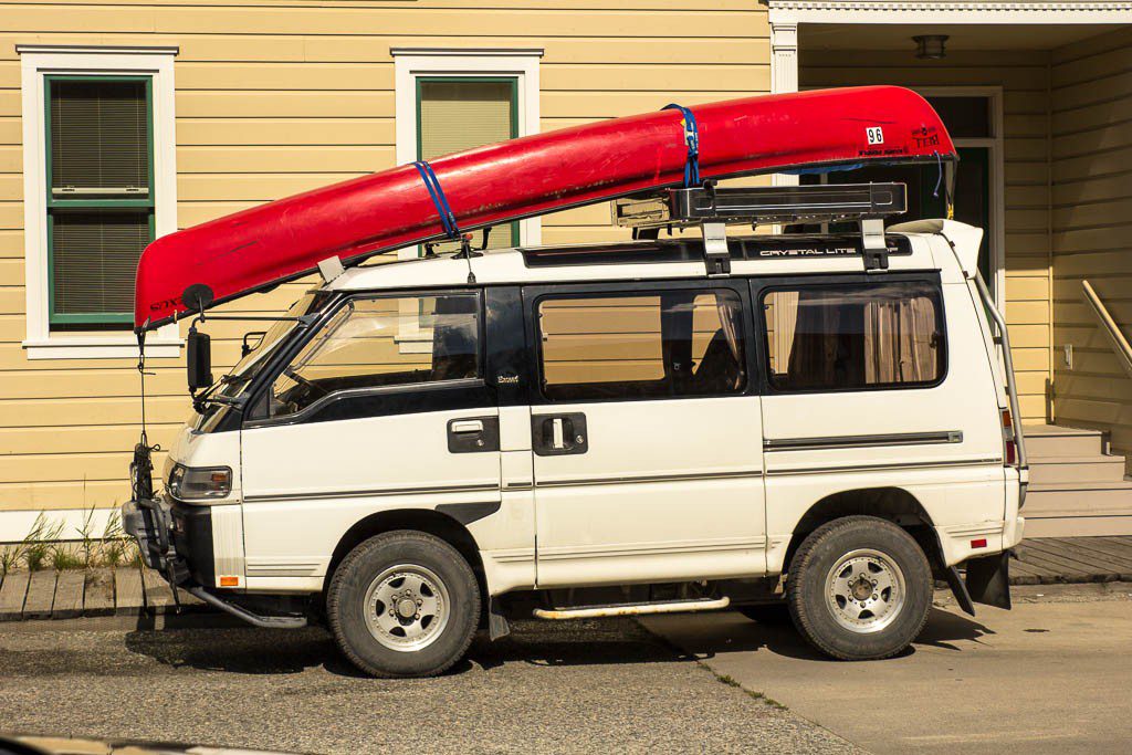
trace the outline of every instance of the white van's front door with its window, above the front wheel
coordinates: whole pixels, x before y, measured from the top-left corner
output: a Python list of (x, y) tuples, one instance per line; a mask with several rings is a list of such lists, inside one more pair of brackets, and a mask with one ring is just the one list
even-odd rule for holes
[(353, 299), (291, 360), (242, 430), (249, 586), (325, 574), (374, 513), (499, 508), (481, 311), (475, 292)]

